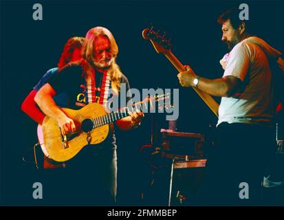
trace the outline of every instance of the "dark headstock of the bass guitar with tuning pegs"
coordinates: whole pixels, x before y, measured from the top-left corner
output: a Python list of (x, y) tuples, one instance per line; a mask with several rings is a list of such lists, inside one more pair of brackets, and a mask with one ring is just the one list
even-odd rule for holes
[(152, 26), (150, 29), (144, 29), (142, 36), (144, 39), (151, 41), (158, 54), (167, 54), (171, 51), (171, 39), (165, 39), (166, 33), (160, 35), (159, 32), (159, 30), (154, 31)]

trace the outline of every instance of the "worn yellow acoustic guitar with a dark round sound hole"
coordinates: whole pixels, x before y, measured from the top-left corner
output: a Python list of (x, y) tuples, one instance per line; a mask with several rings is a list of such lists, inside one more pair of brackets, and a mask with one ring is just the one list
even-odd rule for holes
[[(143, 111), (151, 109), (155, 107), (155, 102), (161, 108), (160, 101), (169, 98), (169, 94), (149, 96), (142, 102), (133, 104), (130, 109), (125, 107), (111, 113), (108, 113), (105, 107), (97, 103), (87, 104), (79, 110), (63, 108), (61, 110), (67, 117), (74, 120), (76, 132), (62, 135), (58, 122), (49, 116), (45, 116), (42, 126), (38, 126), (38, 138), (43, 153), (57, 162), (72, 159), (84, 146), (103, 142), (109, 134), (111, 122), (127, 117), (128, 112), (135, 109)], [(162, 107), (166, 107), (164, 101), (162, 103)]]

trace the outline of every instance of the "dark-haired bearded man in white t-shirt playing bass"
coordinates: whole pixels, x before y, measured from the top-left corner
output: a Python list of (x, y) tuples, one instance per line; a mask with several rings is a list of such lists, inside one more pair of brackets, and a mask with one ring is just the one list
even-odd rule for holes
[(275, 152), (274, 93), (271, 62), (283, 62), (281, 52), (252, 36), (238, 8), (221, 14), (222, 41), (230, 54), (221, 62), (223, 77), (208, 79), (193, 69), (178, 75), (183, 87), (197, 87), (221, 96), (217, 146), (208, 159), (208, 179), (201, 205), (260, 205), (265, 164)]

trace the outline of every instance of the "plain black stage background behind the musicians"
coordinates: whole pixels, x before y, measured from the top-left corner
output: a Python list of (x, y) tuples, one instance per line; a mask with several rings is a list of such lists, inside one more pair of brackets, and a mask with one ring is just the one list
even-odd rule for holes
[[(43, 21), (32, 19), (34, 3), (43, 5)], [(153, 24), (167, 32), (182, 63), (200, 76), (219, 78), (219, 60), (228, 51), (217, 17), (240, 3), (248, 3), (256, 34), (283, 51), (283, 1), (1, 1), (1, 205), (45, 205), (32, 199), (32, 184), (41, 181), (44, 187), (46, 176), (22, 161), (23, 152), (36, 142), (36, 123), (21, 111), (21, 103), (56, 66), (70, 36), (85, 36), (98, 25), (108, 28), (131, 87), (179, 88), (178, 131), (206, 133), (216, 116), (193, 89), (179, 86), (177, 70), (142, 39), (142, 30)], [(154, 117), (159, 129), (166, 126), (164, 115)], [(122, 205), (137, 204), (139, 148), (150, 142), (150, 118), (147, 114), (139, 129), (118, 137)], [(159, 144), (160, 135), (155, 137)]]

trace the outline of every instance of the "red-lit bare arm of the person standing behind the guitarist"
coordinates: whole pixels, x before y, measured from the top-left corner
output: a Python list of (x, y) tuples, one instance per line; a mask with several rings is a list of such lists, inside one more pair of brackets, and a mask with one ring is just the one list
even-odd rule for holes
[(21, 110), (26, 113), (32, 120), (35, 122), (42, 124), (43, 119), (45, 118), (45, 114), (36, 106), (36, 102), (34, 101), (34, 97), (36, 96), (37, 91), (32, 90), (30, 94), (23, 100), (21, 105)]

